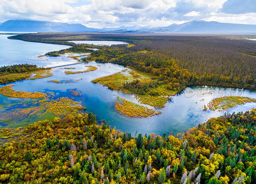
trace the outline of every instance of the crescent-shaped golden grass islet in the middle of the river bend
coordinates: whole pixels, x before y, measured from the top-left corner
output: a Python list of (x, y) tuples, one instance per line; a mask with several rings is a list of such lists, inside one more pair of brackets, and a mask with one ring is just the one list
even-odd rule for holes
[(116, 102), (115, 109), (117, 112), (127, 117), (151, 117), (161, 114), (161, 111), (148, 109), (147, 107), (129, 102), (122, 98), (120, 101), (122, 104)]

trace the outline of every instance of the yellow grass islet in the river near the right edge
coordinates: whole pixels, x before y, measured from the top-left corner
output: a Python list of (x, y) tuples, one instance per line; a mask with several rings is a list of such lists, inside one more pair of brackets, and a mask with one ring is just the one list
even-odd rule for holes
[(237, 105), (252, 102), (256, 102), (256, 99), (242, 96), (222, 96), (214, 98), (207, 106), (210, 110), (227, 110), (236, 107)]

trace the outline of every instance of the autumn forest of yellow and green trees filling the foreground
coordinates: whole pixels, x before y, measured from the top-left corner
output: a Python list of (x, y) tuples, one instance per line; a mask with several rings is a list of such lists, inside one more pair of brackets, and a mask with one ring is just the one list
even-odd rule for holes
[[(1, 129), (3, 183), (256, 182), (255, 110), (225, 114), (175, 136), (123, 133), (68, 115)], [(23, 136), (25, 135), (25, 136)], [(13, 137), (15, 136), (15, 137)], [(17, 137), (20, 136), (20, 137)]]

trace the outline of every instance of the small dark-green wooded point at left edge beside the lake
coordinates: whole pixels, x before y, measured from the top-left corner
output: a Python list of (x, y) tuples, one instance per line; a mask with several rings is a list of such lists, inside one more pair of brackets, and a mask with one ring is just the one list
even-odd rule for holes
[(39, 68), (37, 68), (36, 65), (17, 64), (17, 65), (0, 67), (0, 74), (3, 75), (3, 74), (26, 73), (26, 72), (31, 72), (38, 69)]

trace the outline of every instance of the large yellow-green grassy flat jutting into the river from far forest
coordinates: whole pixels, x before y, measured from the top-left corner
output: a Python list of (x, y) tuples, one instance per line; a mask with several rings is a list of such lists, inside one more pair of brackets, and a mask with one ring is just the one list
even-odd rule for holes
[[(166, 88), (166, 85), (156, 85), (156, 77), (140, 72), (136, 69), (124, 69), (116, 74), (100, 77), (92, 80), (107, 86), (111, 90), (122, 91), (127, 94), (135, 94), (136, 99), (141, 103), (148, 104), (155, 108), (163, 108), (164, 104), (170, 100), (170, 96), (176, 93)], [(134, 88), (133, 86), (137, 86)], [(147, 86), (144, 91), (139, 91), (140, 85)], [(155, 87), (155, 88), (154, 88)]]

